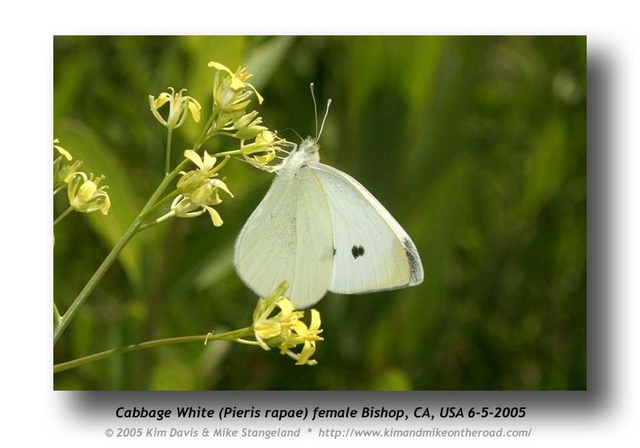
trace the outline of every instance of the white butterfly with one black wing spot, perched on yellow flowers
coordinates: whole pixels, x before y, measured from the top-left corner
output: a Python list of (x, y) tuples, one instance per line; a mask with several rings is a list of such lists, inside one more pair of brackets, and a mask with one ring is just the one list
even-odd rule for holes
[(358, 181), (320, 163), (322, 127), (274, 167), (269, 191), (236, 240), (238, 275), (261, 297), (287, 280), (285, 295), (298, 309), (327, 291), (361, 294), (422, 283), (420, 256), (400, 224)]

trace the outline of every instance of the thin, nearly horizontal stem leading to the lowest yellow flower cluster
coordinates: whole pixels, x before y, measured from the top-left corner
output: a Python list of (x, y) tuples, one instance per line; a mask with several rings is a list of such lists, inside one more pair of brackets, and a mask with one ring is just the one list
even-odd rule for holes
[(229, 331), (227, 333), (220, 334), (208, 334), (198, 336), (180, 336), (176, 338), (156, 339), (154, 341), (141, 342), (139, 344), (127, 345), (125, 347), (115, 348), (112, 350), (105, 350), (100, 353), (94, 353), (93, 355), (85, 356), (83, 358), (74, 359), (72, 361), (55, 364), (53, 366), (53, 373), (63, 372), (65, 370), (74, 369), (76, 367), (89, 364), (90, 362), (99, 361), (101, 359), (110, 358), (112, 356), (122, 355), (124, 353), (134, 352), (138, 350), (145, 350), (148, 348), (159, 347), (163, 345), (181, 344), (185, 342), (205, 342), (205, 341), (232, 341), (241, 336), (246, 336), (251, 333), (251, 327), (242, 328), (240, 330)]

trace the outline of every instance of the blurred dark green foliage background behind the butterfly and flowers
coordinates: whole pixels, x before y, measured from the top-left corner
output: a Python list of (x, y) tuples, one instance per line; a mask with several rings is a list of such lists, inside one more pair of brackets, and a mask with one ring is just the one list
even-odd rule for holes
[[(208, 110), (211, 60), (246, 65), (265, 124), (292, 141), (315, 132), (309, 83), (321, 112), (331, 98), (323, 162), (387, 207), (425, 266), (417, 287), (328, 294), (315, 367), (180, 344), (56, 374), (55, 389), (586, 389), (586, 37), (56, 36), (53, 50), (54, 137), (112, 199), (107, 217), (56, 226), (61, 311), (161, 180), (166, 132), (148, 95), (187, 88)], [(174, 161), (198, 131), (174, 133)], [(224, 225), (171, 220), (134, 238), (55, 362), (251, 323), (233, 243), (272, 176), (238, 161), (224, 175)]]

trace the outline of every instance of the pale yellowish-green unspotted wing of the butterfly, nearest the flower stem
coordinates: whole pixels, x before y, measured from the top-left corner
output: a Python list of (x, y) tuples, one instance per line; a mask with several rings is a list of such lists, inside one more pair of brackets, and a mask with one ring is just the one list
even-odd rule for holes
[(242, 280), (261, 297), (283, 280), (296, 308), (318, 302), (333, 273), (333, 225), (325, 190), (309, 169), (276, 176), (235, 248)]

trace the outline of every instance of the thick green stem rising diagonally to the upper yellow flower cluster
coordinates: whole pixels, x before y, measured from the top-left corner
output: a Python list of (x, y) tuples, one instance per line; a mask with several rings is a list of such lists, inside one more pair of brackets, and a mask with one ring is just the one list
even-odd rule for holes
[(116, 245), (113, 247), (113, 249), (111, 249), (111, 252), (109, 252), (109, 255), (107, 255), (107, 258), (104, 259), (100, 267), (89, 279), (89, 281), (87, 282), (85, 287), (82, 289), (82, 291), (80, 291), (80, 294), (78, 294), (78, 296), (74, 299), (69, 309), (60, 317), (58, 325), (55, 327), (55, 330), (53, 333), (54, 344), (58, 342), (58, 340), (60, 339), (60, 336), (62, 336), (62, 333), (67, 328), (67, 326), (69, 325), (69, 322), (71, 322), (75, 314), (78, 312), (78, 309), (80, 308), (80, 306), (84, 303), (85, 300), (87, 300), (87, 297), (89, 297), (89, 295), (91, 294), (93, 289), (96, 287), (98, 282), (102, 279), (102, 277), (107, 272), (107, 270), (111, 267), (111, 265), (116, 261), (122, 249), (126, 246), (129, 240), (131, 240), (131, 238), (133, 238), (133, 236), (136, 234), (136, 232), (138, 231), (138, 229), (140, 228), (140, 226), (148, 216), (149, 212), (153, 209), (153, 206), (155, 205), (155, 203), (158, 201), (158, 199), (160, 198), (164, 190), (166, 190), (169, 183), (171, 183), (173, 178), (175, 178), (175, 176), (182, 170), (184, 166), (186, 166), (188, 162), (189, 162), (188, 159), (183, 160), (182, 163), (180, 163), (171, 173), (167, 174), (164, 177), (164, 179), (162, 180), (162, 182), (160, 182), (160, 185), (158, 186), (156, 191), (153, 193), (153, 195), (151, 195), (151, 198), (149, 198), (146, 205), (142, 208), (142, 211), (140, 212), (138, 217), (133, 220), (133, 223), (124, 233), (122, 238), (120, 238), (120, 241), (118, 241)]

